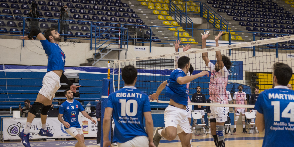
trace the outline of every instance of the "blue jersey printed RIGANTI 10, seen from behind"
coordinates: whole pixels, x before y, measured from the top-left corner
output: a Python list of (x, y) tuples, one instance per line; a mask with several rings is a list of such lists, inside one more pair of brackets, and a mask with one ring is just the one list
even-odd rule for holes
[(151, 111), (147, 94), (125, 86), (109, 94), (106, 107), (113, 108), (113, 141), (124, 143), (136, 136), (147, 136), (143, 125), (143, 113)]

